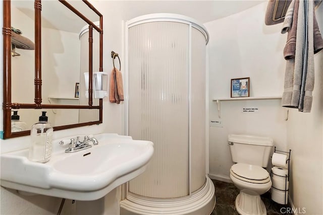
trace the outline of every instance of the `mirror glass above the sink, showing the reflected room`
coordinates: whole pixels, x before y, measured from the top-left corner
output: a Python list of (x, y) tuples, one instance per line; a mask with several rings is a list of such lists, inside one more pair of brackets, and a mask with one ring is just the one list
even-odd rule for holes
[[(22, 36), (34, 41), (34, 1), (11, 2), (12, 27)], [(99, 16), (82, 1), (69, 2), (92, 22)], [(41, 67), (42, 104), (88, 105), (85, 96), (84, 73), (88, 72), (88, 24), (59, 1), (42, 1), (41, 11)], [(15, 49), (20, 56), (12, 56), (12, 102), (34, 103), (34, 50)], [(99, 67), (99, 33), (93, 31), (93, 71)], [(98, 105), (93, 99), (93, 106)], [(79, 109), (19, 109), (19, 122), (29, 130), (38, 121), (41, 111), (47, 111), (52, 126), (99, 120), (99, 110)], [(12, 121), (12, 132), (17, 116)], [(18, 123), (19, 124), (19, 123)]]

